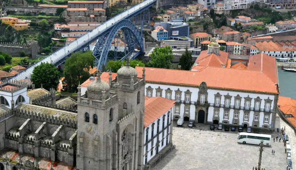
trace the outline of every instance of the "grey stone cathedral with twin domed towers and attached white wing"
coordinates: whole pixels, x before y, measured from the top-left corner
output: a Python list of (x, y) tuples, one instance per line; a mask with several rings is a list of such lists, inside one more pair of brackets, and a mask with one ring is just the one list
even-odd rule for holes
[(99, 73), (77, 101), (27, 79), (1, 82), (0, 170), (151, 169), (172, 149), (175, 101), (145, 97), (140, 72), (127, 62)]

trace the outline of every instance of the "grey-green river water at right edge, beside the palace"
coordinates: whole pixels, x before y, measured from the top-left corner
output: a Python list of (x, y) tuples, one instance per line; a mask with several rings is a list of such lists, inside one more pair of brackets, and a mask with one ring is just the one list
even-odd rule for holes
[(278, 67), (281, 96), (296, 99), (296, 72), (284, 71)]

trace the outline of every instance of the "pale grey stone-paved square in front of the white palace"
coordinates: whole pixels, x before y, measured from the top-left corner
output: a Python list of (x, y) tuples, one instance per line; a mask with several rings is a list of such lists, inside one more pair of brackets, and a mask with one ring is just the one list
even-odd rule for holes
[[(176, 149), (162, 159), (153, 170), (252, 170), (253, 166), (258, 166), (259, 146), (237, 143), (238, 131), (210, 131), (210, 126), (203, 124), (188, 128), (187, 124), (184, 123), (185, 127), (176, 127), (174, 122), (173, 144), (176, 145)], [(272, 138), (277, 135), (281, 134), (271, 134)], [(271, 146), (264, 146), (261, 167), (266, 170), (286, 169), (284, 148), (283, 142), (273, 142), (272, 139)], [(274, 155), (271, 155), (272, 149), (275, 149)]]

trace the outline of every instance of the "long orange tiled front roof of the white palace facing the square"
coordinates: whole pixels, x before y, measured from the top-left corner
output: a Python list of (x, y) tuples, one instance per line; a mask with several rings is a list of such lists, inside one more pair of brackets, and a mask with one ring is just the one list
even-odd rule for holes
[[(274, 57), (271, 58), (275, 61)], [(138, 77), (142, 76), (142, 69), (143, 67), (136, 66)], [(146, 68), (145, 73), (147, 82), (199, 86), (205, 81), (209, 88), (278, 93), (274, 81), (256, 70), (207, 66), (199, 71)]]

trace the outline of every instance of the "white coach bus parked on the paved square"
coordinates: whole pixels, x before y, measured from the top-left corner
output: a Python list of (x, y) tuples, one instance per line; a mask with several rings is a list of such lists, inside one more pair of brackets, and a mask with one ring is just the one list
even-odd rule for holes
[(269, 134), (255, 134), (255, 133), (239, 133), (237, 137), (238, 143), (247, 143), (247, 144), (254, 144), (259, 145), (263, 140), (263, 144), (266, 146), (270, 146), (271, 144), (271, 135)]

